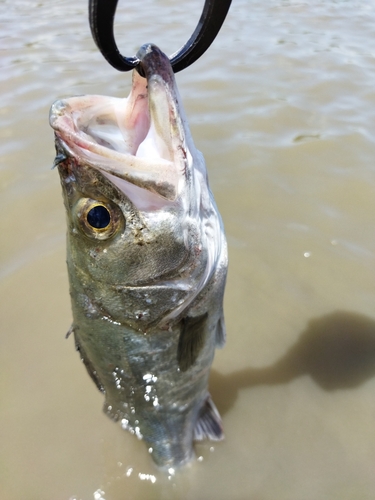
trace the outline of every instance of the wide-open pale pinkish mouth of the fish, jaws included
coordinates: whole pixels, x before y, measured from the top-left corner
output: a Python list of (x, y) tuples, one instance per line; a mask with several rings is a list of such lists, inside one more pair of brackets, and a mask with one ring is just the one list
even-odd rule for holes
[(140, 210), (173, 204), (192, 165), (190, 132), (168, 57), (154, 45), (138, 56), (129, 97), (79, 96), (54, 103), (60, 145), (100, 170)]

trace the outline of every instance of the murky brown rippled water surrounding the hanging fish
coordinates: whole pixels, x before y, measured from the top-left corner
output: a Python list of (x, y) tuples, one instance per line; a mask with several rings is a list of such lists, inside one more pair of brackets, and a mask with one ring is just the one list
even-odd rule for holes
[[(187, 7), (188, 5), (188, 7)], [(123, 52), (171, 53), (202, 2), (120, 5)], [(85, 2), (2, 2), (0, 498), (372, 499), (375, 6), (235, 0), (178, 75), (229, 241), (228, 342), (211, 392), (226, 440), (161, 475), (101, 413), (64, 339), (65, 214), (50, 104), (127, 95)], [(187, 9), (189, 11), (187, 12)]]

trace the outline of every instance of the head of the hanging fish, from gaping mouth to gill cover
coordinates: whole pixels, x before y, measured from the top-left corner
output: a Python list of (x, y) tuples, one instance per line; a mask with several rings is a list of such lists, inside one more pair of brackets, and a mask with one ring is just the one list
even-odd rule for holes
[(108, 296), (104, 285), (172, 283), (180, 311), (212, 274), (222, 227), (169, 59), (154, 45), (138, 55), (145, 77), (134, 70), (128, 98), (80, 96), (51, 108), (68, 267), (95, 297)]

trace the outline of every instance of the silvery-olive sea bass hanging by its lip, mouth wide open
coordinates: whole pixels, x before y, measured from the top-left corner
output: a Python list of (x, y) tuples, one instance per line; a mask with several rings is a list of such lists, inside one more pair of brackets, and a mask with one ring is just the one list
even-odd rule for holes
[(223, 437), (208, 392), (225, 342), (227, 247), (168, 57), (144, 45), (126, 99), (50, 113), (67, 211), (76, 348), (104, 411), (178, 467)]

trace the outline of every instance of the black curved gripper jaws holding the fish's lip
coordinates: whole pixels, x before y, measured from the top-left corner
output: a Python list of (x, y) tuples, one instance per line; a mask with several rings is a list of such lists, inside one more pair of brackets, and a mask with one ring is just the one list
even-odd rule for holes
[[(124, 57), (117, 48), (113, 23), (118, 0), (89, 0), (89, 21), (94, 41), (104, 58), (117, 70), (129, 71), (139, 64), (136, 56)], [(206, 0), (197, 27), (189, 40), (170, 56), (177, 73), (206, 52), (219, 33), (232, 0)]]

